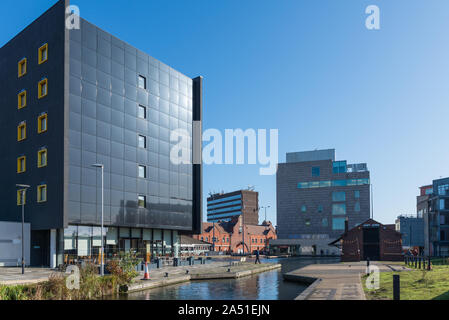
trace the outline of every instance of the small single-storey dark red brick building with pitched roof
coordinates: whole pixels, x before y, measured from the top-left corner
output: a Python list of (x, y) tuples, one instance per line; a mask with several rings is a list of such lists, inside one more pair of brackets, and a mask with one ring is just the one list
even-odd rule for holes
[(394, 224), (381, 224), (368, 219), (348, 230), (329, 245), (342, 249), (341, 261), (401, 261), (402, 239)]

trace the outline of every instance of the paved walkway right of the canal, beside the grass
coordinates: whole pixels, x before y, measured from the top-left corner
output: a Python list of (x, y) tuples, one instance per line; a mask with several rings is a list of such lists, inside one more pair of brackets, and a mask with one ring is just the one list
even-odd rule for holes
[[(380, 272), (409, 270), (398, 264), (372, 261)], [(366, 300), (361, 275), (366, 272), (366, 261), (338, 264), (313, 264), (284, 275), (290, 281), (312, 283), (298, 300)]]

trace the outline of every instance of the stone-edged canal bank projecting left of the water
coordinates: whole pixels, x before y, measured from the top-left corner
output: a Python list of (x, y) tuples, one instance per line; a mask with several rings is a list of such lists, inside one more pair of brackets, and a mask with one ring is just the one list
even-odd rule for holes
[(148, 290), (188, 281), (237, 279), (279, 268), (281, 268), (280, 264), (254, 264), (251, 262), (241, 262), (237, 265), (215, 262), (207, 265), (182, 266), (172, 269), (164, 268), (150, 272), (150, 280), (142, 280), (142, 273), (139, 277), (134, 279), (132, 284), (124, 287), (123, 292), (130, 293)]

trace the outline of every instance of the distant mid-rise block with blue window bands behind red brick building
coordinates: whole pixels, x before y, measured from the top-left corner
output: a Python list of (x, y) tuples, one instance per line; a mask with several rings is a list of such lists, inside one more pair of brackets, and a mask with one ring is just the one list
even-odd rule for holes
[(242, 215), (243, 223), (259, 224), (259, 193), (239, 190), (217, 193), (207, 198), (207, 221), (231, 221)]

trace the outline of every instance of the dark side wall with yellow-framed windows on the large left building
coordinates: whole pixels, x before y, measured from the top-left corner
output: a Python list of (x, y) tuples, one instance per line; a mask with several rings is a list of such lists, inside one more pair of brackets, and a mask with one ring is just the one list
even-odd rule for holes
[[(50, 229), (64, 226), (64, 23), (65, 3), (57, 2), (0, 49), (0, 117), (2, 138), (0, 160), (3, 172), (0, 184), (0, 220), (18, 221), (16, 183), (31, 185), (27, 194), (25, 220), (31, 228)], [(38, 64), (38, 49), (48, 44), (48, 61)], [(18, 62), (27, 59), (27, 73), (18, 78)], [(38, 82), (48, 79), (48, 95), (37, 97)], [(27, 91), (27, 106), (17, 109), (17, 94)], [(48, 113), (48, 131), (37, 133), (37, 118)], [(17, 142), (17, 125), (26, 121), (27, 137)], [(37, 152), (48, 149), (48, 166), (37, 168)], [(17, 157), (26, 156), (26, 172), (16, 173)], [(48, 200), (37, 203), (37, 186), (47, 184)]]

